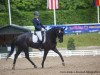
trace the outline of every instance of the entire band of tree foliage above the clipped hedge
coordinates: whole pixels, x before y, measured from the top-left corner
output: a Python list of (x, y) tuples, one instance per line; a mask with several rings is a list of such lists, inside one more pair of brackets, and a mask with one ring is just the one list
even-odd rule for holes
[[(7, 9), (8, 0), (0, 0), (0, 10)], [(47, 0), (10, 0), (12, 10), (34, 11), (47, 10)], [(91, 8), (93, 0), (59, 0), (60, 10)]]

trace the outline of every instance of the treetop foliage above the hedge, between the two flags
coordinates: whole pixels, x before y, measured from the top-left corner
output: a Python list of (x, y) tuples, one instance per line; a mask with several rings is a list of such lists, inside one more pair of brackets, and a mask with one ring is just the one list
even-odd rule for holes
[(93, 4), (92, 0), (60, 0), (60, 9), (63, 10), (76, 10), (85, 9), (91, 7)]

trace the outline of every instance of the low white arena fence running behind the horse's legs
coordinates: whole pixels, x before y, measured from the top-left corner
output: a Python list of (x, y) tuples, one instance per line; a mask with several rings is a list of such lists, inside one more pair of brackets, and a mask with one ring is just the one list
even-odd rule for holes
[[(14, 52), (11, 55), (11, 59), (14, 59), (14, 54), (16, 52)], [(62, 56), (86, 56), (86, 55), (92, 55), (92, 56), (96, 56), (96, 55), (100, 55), (100, 50), (61, 50), (60, 53), (62, 54)], [(0, 53), (0, 59), (2, 58), (6, 58), (8, 53)], [(44, 51), (37, 51), (37, 52), (29, 52), (29, 56), (30, 57), (43, 57)], [(47, 56), (58, 56), (58, 54), (56, 54), (54, 51), (49, 51)], [(25, 54), (22, 52), (18, 58), (23, 58), (25, 57)]]

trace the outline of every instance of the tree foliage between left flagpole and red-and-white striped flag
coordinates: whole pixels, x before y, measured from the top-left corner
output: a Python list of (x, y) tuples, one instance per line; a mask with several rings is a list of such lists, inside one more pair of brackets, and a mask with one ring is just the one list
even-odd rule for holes
[(46, 0), (12, 0), (12, 8), (22, 11), (44, 10)]

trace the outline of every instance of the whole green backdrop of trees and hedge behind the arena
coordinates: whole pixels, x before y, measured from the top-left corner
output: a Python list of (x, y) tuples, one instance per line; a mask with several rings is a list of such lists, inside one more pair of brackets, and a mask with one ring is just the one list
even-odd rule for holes
[[(34, 11), (40, 12), (44, 25), (53, 24), (53, 10), (47, 9), (47, 0), (10, 0), (12, 23), (33, 25)], [(0, 25), (9, 24), (7, 0), (0, 0)], [(95, 23), (97, 11), (94, 0), (59, 0), (57, 24)]]

